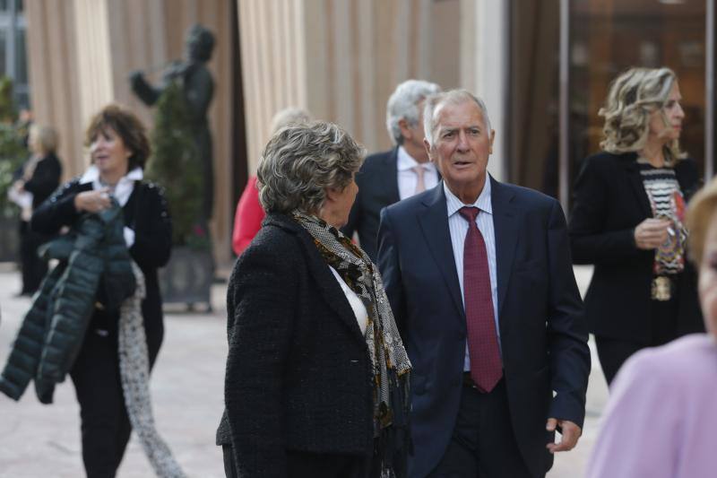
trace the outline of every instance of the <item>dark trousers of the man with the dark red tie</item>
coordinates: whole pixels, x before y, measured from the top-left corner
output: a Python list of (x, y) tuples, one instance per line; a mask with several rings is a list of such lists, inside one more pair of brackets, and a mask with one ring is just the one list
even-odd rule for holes
[(488, 394), (465, 383), (453, 436), (428, 478), (532, 478), (510, 423), (505, 379)]

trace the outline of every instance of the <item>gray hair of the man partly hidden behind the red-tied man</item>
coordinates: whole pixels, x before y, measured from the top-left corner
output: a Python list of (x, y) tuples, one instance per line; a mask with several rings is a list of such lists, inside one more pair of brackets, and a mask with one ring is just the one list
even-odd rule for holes
[(401, 126), (398, 122), (405, 119), (410, 126), (418, 125), (420, 100), (439, 91), (441, 87), (436, 83), (423, 80), (407, 80), (396, 87), (386, 104), (386, 129), (393, 144), (403, 143)]

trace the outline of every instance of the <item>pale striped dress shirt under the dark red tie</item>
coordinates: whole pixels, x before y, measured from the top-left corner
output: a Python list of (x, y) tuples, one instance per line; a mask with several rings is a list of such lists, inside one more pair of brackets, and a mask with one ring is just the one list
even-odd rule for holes
[[(480, 213), (476, 217), (476, 225), (483, 241), (486, 243), (486, 255), (488, 256), (488, 274), (490, 274), (490, 295), (493, 299), (493, 319), (496, 322), (496, 334), (498, 340), (498, 348), (500, 349), (500, 328), (498, 327), (498, 287), (497, 287), (497, 268), (496, 268), (496, 232), (493, 227), (493, 203), (490, 200), (490, 178), (486, 175), (486, 184), (480, 192), (478, 199), (473, 204), (463, 204), (450, 189), (443, 184), (445, 192), (445, 205), (448, 213), (448, 230), (451, 233), (451, 245), (454, 249), (455, 271), (458, 273), (458, 283), (461, 285), (461, 300), (463, 301), (463, 310), (465, 310), (465, 297), (463, 295), (463, 247), (465, 246), (465, 236), (468, 234), (468, 222), (463, 219), (458, 210), (463, 206), (476, 206)], [(502, 354), (502, 351), (501, 351)], [(465, 347), (465, 361), (463, 362), (463, 370), (471, 369), (471, 358), (468, 353), (468, 343)]]

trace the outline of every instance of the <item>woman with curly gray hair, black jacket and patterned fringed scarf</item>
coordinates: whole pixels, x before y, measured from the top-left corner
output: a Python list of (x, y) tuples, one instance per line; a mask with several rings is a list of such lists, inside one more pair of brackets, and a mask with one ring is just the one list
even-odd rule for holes
[(341, 234), (363, 149), (289, 126), (259, 162), (263, 228), (229, 280), (228, 477), (406, 474), (410, 362), (376, 265)]

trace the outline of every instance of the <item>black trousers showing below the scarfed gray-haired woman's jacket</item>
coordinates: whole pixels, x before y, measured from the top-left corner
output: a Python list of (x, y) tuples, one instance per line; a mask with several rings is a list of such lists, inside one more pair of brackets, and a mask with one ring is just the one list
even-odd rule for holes
[[(224, 474), (227, 478), (239, 478), (234, 455), (229, 445), (222, 446)], [(319, 454), (287, 451), (287, 478), (367, 478), (367, 459), (364, 456), (342, 454)], [(372, 476), (380, 476), (375, 474)]]

